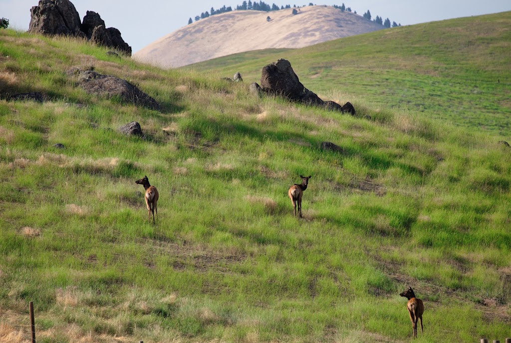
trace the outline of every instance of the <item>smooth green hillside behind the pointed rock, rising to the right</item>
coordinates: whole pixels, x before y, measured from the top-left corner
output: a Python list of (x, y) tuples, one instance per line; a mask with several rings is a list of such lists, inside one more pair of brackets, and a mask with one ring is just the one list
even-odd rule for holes
[[(335, 101), (360, 98), (375, 108), (417, 110), (456, 125), (511, 138), (511, 12), (398, 27), (312, 47), (227, 56), (192, 65), (245, 81), (278, 58), (304, 85)], [(225, 63), (224, 60), (228, 60)], [(331, 71), (309, 71), (312, 66)], [(331, 92), (341, 93), (336, 98)], [(349, 94), (346, 94), (349, 93)]]

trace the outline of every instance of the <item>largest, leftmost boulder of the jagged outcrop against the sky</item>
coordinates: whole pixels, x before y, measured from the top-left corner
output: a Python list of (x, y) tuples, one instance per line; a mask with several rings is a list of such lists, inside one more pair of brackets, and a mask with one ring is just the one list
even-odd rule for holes
[(30, 33), (84, 36), (80, 15), (69, 0), (40, 0), (30, 14)]

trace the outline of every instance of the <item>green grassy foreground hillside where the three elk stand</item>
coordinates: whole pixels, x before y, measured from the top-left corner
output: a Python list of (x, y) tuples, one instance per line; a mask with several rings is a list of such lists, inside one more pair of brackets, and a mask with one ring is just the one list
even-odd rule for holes
[[(75, 66), (127, 78), (162, 111), (87, 95)], [(511, 336), (498, 136), (335, 91), (357, 117), (260, 99), (10, 30), (0, 89), (47, 96), (0, 100), (1, 341), (29, 339), (34, 301), (38, 342), (404, 342), (408, 286), (426, 307), (418, 342)], [(144, 139), (117, 131), (132, 120)], [(300, 174), (303, 219), (287, 198)]]

